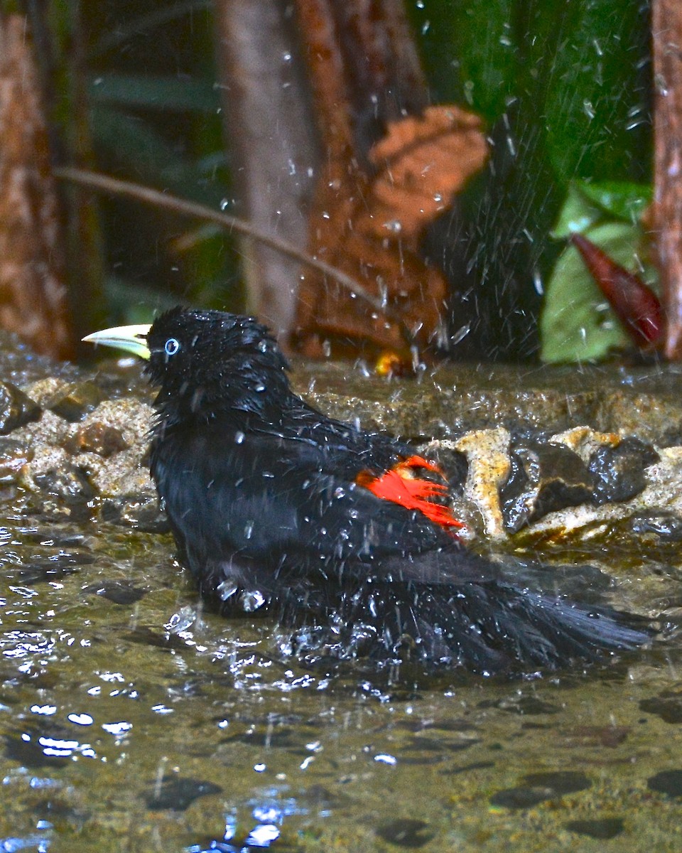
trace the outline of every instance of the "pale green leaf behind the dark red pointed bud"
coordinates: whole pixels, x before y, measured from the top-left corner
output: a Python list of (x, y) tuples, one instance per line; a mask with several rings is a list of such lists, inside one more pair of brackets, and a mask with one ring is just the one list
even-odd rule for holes
[[(656, 271), (649, 264), (642, 271), (634, 249), (642, 238), (638, 226), (610, 222), (584, 233), (618, 264), (637, 272), (648, 284), (655, 283)], [(632, 345), (573, 246), (558, 258), (547, 284), (540, 338), (540, 357), (545, 362), (594, 361)]]

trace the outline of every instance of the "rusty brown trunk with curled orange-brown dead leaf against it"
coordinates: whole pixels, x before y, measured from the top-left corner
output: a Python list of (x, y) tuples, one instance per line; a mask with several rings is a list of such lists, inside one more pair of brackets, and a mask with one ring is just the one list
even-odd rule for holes
[(296, 6), (324, 152), (309, 250), (385, 306), (368, 309), (307, 270), (298, 347), (319, 356), (442, 345), (448, 282), (421, 241), (483, 166), (482, 122), (454, 105), (429, 106), (403, 0)]

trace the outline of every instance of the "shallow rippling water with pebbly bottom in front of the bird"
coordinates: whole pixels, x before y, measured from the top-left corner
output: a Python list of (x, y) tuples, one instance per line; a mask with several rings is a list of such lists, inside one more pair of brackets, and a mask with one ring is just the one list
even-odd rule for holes
[(525, 681), (327, 677), (200, 612), (170, 537), (5, 515), (0, 850), (682, 849), (674, 639)]

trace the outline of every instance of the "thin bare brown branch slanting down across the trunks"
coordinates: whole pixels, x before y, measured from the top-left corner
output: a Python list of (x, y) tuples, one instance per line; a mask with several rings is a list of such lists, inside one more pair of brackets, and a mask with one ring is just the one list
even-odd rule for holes
[(403, 337), (405, 337), (408, 344), (412, 343), (412, 334), (410, 334), (409, 330), (405, 327), (402, 319), (396, 316), (396, 312), (391, 310), (390, 306), (384, 305), (381, 299), (376, 299), (367, 293), (367, 291), (361, 287), (355, 279), (350, 276), (346, 276), (344, 272), (337, 270), (336, 267), (332, 267), (331, 264), (325, 264), (324, 261), (312, 258), (297, 247), (292, 246), (291, 243), (280, 240), (278, 237), (265, 234), (263, 231), (254, 228), (247, 222), (244, 222), (243, 219), (230, 216), (228, 213), (214, 211), (211, 207), (200, 205), (195, 201), (180, 199), (176, 195), (162, 193), (159, 192), (158, 189), (143, 187), (139, 183), (119, 181), (116, 177), (101, 175), (95, 171), (74, 169), (71, 166), (61, 166), (59, 168), (55, 168), (53, 171), (55, 177), (60, 177), (65, 181), (78, 183), (81, 186), (91, 187), (92, 189), (101, 189), (104, 193), (124, 195), (129, 199), (141, 201), (142, 204), (152, 205), (154, 207), (164, 207), (165, 210), (176, 212), (180, 216), (194, 217), (197, 219), (203, 219), (205, 222), (213, 222), (228, 231), (237, 231), (239, 234), (243, 234), (251, 240), (263, 243), (263, 246), (275, 249), (275, 252), (281, 252), (281, 254), (286, 255), (287, 258), (293, 258), (301, 264), (305, 264), (314, 270), (318, 270), (333, 281), (337, 281), (342, 287), (350, 290), (351, 293), (355, 293), (355, 296), (359, 299), (363, 299), (367, 302), (367, 305), (371, 305), (374, 310), (384, 314), (384, 316), (388, 317), (390, 320), (399, 323)]

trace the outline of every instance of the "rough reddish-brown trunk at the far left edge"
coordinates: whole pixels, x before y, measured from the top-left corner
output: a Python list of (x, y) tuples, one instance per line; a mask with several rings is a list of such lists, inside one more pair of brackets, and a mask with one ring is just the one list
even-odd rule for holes
[(0, 15), (0, 325), (72, 357), (64, 244), (26, 20)]

